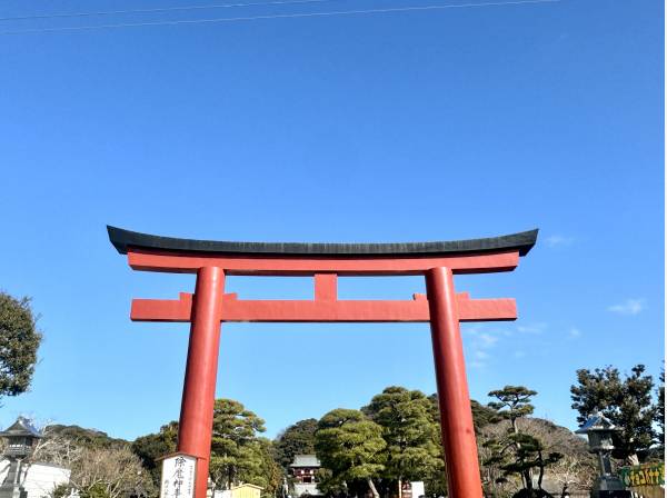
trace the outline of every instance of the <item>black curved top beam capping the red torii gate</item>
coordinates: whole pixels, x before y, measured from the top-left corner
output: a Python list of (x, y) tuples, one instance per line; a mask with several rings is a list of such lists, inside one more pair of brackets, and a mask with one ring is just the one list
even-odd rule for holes
[(121, 255), (126, 255), (129, 248), (136, 248), (221, 255), (331, 257), (415, 257), (518, 250), (520, 256), (526, 256), (537, 240), (537, 229), (501, 237), (489, 237), (486, 239), (390, 243), (226, 242), (151, 236), (110, 226), (107, 226), (107, 231), (109, 232), (109, 240)]

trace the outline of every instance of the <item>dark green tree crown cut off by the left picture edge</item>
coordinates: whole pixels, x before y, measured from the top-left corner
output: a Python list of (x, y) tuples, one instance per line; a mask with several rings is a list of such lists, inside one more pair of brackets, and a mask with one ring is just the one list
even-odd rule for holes
[(0, 291), (0, 398), (30, 387), (42, 338), (36, 321), (30, 298)]

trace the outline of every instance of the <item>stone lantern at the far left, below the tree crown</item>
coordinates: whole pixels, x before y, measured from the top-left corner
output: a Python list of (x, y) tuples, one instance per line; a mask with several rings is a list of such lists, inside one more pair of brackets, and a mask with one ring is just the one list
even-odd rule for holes
[(8, 429), (0, 431), (0, 437), (7, 440), (3, 457), (9, 460), (9, 470), (0, 485), (0, 498), (27, 498), (21, 467), (42, 435), (27, 419), (19, 417)]

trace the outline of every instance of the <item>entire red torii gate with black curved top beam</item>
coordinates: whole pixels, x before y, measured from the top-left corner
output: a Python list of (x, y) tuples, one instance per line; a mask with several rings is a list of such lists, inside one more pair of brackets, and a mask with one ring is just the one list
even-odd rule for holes
[[(195, 498), (206, 498), (221, 321), (429, 321), (449, 496), (481, 498), (459, 321), (515, 320), (514, 299), (456, 293), (456, 273), (511, 271), (537, 230), (474, 240), (410, 243), (271, 243), (176, 239), (107, 227), (132, 269), (197, 273), (195, 295), (133, 299), (135, 321), (189, 321), (178, 450), (197, 457)], [(241, 300), (225, 276), (312, 276), (312, 300)], [(339, 300), (338, 276), (424, 275), (412, 300)]]

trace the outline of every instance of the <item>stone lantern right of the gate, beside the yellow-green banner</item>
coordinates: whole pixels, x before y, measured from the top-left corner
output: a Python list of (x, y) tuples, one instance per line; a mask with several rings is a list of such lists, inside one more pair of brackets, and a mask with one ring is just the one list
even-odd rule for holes
[(625, 490), (625, 486), (611, 471), (611, 450), (614, 449), (613, 436), (619, 429), (611, 424), (599, 411), (595, 411), (588, 420), (575, 431), (588, 437), (588, 449), (597, 455), (600, 476), (597, 478), (594, 489), (590, 492), (593, 498), (621, 498), (630, 497), (630, 492)]

